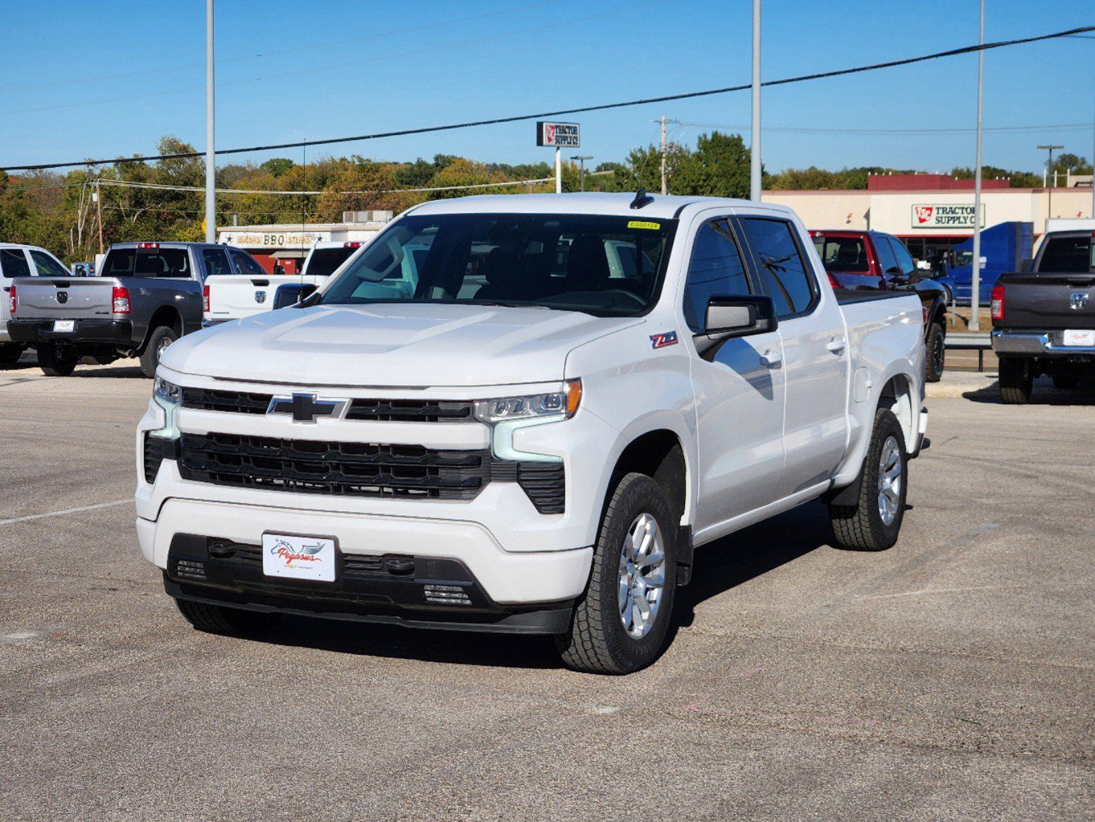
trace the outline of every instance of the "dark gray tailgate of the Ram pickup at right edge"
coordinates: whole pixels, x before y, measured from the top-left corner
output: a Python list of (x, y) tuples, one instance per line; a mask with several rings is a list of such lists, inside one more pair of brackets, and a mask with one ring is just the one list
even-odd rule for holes
[(1095, 276), (1091, 274), (1011, 274), (1004, 286), (1007, 329), (1059, 331), (1095, 329)]

